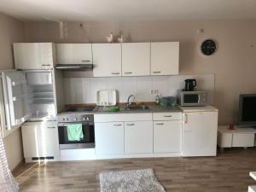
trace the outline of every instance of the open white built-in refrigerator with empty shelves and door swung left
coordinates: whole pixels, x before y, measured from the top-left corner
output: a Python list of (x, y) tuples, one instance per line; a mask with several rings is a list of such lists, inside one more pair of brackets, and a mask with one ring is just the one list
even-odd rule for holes
[(57, 114), (55, 72), (7, 70), (1, 73), (5, 129), (26, 120), (55, 120)]

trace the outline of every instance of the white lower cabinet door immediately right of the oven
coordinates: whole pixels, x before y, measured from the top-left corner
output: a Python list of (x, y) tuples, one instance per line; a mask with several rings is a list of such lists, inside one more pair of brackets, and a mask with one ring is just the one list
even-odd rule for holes
[(96, 155), (124, 154), (124, 123), (95, 124)]

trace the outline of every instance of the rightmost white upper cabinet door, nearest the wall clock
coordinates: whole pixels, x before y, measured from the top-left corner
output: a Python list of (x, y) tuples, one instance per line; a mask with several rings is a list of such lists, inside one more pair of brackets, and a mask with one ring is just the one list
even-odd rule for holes
[(151, 75), (178, 74), (179, 42), (151, 43)]

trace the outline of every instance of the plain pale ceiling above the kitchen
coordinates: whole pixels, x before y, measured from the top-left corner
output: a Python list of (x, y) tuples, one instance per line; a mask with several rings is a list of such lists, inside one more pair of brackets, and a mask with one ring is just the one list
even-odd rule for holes
[(256, 19), (256, 0), (0, 0), (20, 20)]

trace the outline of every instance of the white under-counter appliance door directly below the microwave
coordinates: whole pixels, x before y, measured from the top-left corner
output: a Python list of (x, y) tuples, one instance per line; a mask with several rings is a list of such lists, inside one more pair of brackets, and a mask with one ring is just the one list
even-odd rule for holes
[(215, 156), (218, 112), (183, 113), (183, 156)]

